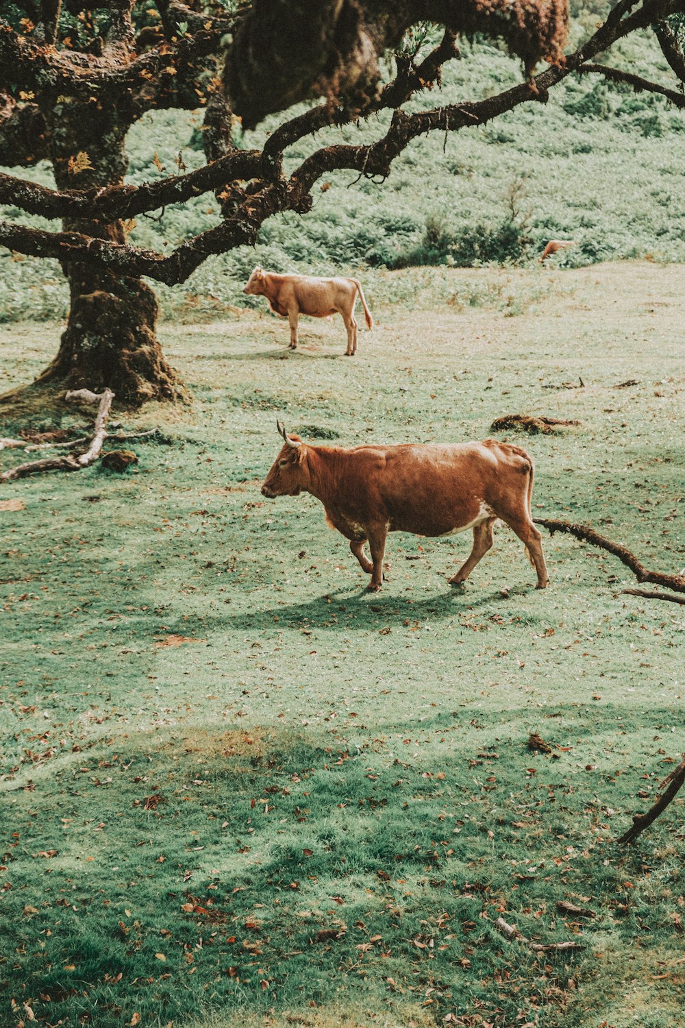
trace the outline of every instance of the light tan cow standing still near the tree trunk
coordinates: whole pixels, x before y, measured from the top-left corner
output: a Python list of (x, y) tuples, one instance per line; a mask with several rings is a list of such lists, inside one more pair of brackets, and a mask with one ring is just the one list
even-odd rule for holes
[(339, 314), (347, 329), (345, 357), (356, 353), (356, 319), (354, 305), (359, 294), (367, 328), (373, 328), (361, 286), (356, 279), (315, 279), (309, 274), (275, 274), (264, 271), (258, 264), (242, 290), (252, 296), (266, 296), (274, 314), (288, 318), (291, 326), (290, 348), (298, 344), (297, 324), (300, 315), (330, 318)]

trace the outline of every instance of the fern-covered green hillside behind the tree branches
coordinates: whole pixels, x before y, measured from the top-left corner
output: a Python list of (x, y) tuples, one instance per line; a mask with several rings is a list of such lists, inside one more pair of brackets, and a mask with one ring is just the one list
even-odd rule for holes
[[(596, 14), (585, 13), (574, 23), (577, 41), (592, 33), (596, 21)], [(657, 80), (672, 79), (646, 35), (617, 44), (612, 60)], [(443, 88), (410, 106), (478, 100), (520, 78), (520, 66), (502, 50), (464, 42), (463, 59), (445, 69)], [(314, 145), (368, 142), (382, 135), (387, 121), (382, 115), (358, 127), (331, 130)], [(201, 152), (193, 149), (201, 146), (200, 123), (201, 114), (146, 115), (128, 139), (130, 181), (175, 172), (180, 150), (188, 168), (201, 163)], [(260, 145), (276, 123), (271, 119), (244, 135), (241, 145)], [(239, 291), (257, 261), (273, 270), (363, 270), (372, 293), (382, 281), (378, 267), (525, 264), (559, 236), (579, 244), (555, 258), (570, 265), (636, 257), (683, 261), (684, 133), (685, 115), (662, 98), (574, 76), (551, 91), (546, 105), (530, 104), (447, 139), (432, 134), (417, 140), (382, 185), (352, 184), (352, 173), (332, 176), (311, 214), (276, 217), (264, 225), (256, 249), (213, 258), (183, 286), (161, 288), (163, 311), (193, 320), (214, 317), (227, 305), (259, 304)], [(311, 143), (292, 147), (288, 167), (311, 149)], [(158, 170), (155, 155), (165, 171)], [(48, 181), (42, 168), (33, 174)], [(4, 214), (18, 216), (6, 209)], [(214, 197), (203, 196), (165, 211), (159, 221), (140, 218), (131, 241), (158, 249), (176, 246), (217, 217)], [(0, 252), (0, 321), (63, 317), (66, 303), (55, 262), (12, 260)]]

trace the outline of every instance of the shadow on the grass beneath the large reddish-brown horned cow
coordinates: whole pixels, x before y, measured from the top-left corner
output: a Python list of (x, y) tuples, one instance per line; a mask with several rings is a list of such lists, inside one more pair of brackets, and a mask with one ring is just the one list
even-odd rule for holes
[(350, 628), (367, 630), (405, 625), (414, 622), (440, 622), (462, 614), (482, 612), (484, 615), (503, 614), (513, 610), (519, 597), (529, 594), (534, 586), (508, 589), (504, 596), (501, 589), (475, 594), (463, 586), (452, 586), (449, 591), (433, 593), (421, 599), (397, 596), (391, 593), (372, 593), (367, 589), (351, 591), (335, 589), (322, 596), (301, 603), (278, 603), (275, 607), (237, 615), (231, 626), (245, 630), (262, 627), (268, 618), (278, 629), (319, 628), (322, 630), (349, 631)]

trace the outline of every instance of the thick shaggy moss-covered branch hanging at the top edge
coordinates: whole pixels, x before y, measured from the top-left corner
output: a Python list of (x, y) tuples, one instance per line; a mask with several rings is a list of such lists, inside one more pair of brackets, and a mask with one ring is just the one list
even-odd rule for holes
[(310, 97), (347, 98), (364, 111), (376, 99), (378, 58), (416, 22), (455, 33), (505, 39), (531, 72), (541, 58), (559, 61), (566, 39), (566, 0), (255, 0), (226, 62), (233, 109), (246, 127)]

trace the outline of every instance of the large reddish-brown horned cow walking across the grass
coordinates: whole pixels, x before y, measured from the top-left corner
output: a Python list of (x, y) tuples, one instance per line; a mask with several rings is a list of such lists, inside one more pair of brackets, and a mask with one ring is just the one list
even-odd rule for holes
[[(305, 444), (276, 424), (284, 446), (262, 495), (297, 497), (304, 489), (320, 500), (328, 524), (350, 541), (363, 571), (371, 575), (373, 592), (381, 587), (388, 531), (441, 537), (472, 528), (473, 549), (449, 580), (458, 585), (492, 546), (497, 518), (524, 543), (537, 572), (537, 588), (549, 581), (540, 533), (531, 517), (533, 462), (521, 447), (486, 439), (343, 449)], [(364, 551), (367, 542), (371, 560)]]

